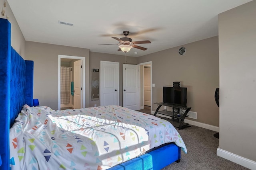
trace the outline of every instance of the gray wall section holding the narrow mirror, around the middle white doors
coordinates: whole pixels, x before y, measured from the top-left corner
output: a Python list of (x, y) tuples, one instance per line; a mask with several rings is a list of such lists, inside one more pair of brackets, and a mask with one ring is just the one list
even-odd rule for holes
[[(120, 53), (123, 53), (120, 51)], [(119, 62), (119, 105), (123, 106), (123, 64), (125, 63), (125, 56), (123, 55), (112, 55), (112, 54), (105, 54), (105, 53), (95, 53), (90, 52), (90, 89), (92, 86), (92, 68), (99, 68), (100, 69), (100, 61), (112, 61), (112, 62)], [(126, 57), (126, 64), (137, 64), (137, 58), (135, 57)], [(100, 98), (99, 100), (91, 100), (91, 92), (89, 94), (90, 96), (90, 107), (94, 107), (94, 104), (97, 106), (100, 106)]]

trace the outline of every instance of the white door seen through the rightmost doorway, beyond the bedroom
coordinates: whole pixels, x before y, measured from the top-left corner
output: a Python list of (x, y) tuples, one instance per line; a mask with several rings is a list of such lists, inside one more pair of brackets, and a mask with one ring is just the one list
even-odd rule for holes
[(144, 105), (151, 106), (151, 68), (144, 67)]

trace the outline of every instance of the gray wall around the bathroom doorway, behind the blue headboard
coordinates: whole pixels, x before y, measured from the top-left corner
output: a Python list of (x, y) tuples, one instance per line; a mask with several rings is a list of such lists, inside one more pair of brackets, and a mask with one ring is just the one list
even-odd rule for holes
[(34, 61), (34, 98), (58, 109), (58, 55), (85, 57), (86, 107), (89, 107), (89, 49), (26, 41), (26, 60)]

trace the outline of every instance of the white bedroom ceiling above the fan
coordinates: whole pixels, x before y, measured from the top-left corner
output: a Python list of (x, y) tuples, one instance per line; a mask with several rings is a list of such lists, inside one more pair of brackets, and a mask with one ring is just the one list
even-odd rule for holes
[[(26, 41), (124, 55), (112, 37), (130, 31), (139, 57), (218, 35), (218, 14), (251, 0), (8, 0)], [(72, 23), (63, 25), (58, 21)], [(135, 54), (137, 52), (137, 54)]]

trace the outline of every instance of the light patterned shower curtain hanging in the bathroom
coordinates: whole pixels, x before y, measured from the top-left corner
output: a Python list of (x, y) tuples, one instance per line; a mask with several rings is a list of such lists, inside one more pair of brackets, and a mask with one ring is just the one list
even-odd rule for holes
[(70, 67), (60, 67), (60, 103), (70, 103)]

